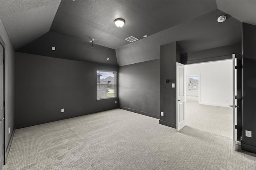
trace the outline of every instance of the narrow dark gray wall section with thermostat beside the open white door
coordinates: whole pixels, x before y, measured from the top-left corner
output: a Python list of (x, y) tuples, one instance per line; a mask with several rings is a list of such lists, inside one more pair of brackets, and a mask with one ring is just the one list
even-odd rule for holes
[[(179, 51), (176, 42), (160, 47), (160, 111), (164, 116), (160, 117), (159, 123), (176, 128), (176, 62), (179, 61)], [(166, 82), (169, 80), (169, 82)]]

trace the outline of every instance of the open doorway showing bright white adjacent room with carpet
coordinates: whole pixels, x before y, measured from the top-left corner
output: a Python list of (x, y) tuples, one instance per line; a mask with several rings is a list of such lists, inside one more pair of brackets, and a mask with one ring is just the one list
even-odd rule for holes
[(232, 60), (185, 65), (185, 125), (232, 138)]

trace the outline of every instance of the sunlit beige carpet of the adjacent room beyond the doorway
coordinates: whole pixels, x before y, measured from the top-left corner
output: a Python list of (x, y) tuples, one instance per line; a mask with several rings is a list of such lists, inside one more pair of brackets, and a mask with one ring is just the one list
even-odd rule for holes
[(198, 97), (187, 96), (186, 126), (232, 138), (232, 116), (232, 107), (198, 104)]

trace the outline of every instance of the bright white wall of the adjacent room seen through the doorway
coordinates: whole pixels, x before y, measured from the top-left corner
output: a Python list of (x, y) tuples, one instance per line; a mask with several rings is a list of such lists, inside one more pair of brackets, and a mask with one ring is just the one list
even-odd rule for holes
[(232, 105), (232, 59), (185, 65), (185, 77), (187, 75), (200, 75), (199, 104)]

